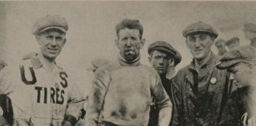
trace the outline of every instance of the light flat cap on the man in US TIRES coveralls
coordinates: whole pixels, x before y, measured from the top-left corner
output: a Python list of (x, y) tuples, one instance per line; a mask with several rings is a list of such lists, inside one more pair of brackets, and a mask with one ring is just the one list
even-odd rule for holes
[(47, 15), (46, 17), (42, 17), (37, 20), (36, 24), (32, 28), (32, 34), (37, 35), (42, 31), (46, 31), (48, 29), (58, 29), (66, 33), (68, 31), (69, 26), (64, 17), (59, 15)]

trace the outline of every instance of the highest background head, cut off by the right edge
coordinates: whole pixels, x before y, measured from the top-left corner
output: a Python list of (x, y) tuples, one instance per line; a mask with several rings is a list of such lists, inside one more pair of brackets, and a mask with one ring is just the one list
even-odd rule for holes
[(255, 24), (244, 24), (243, 31), (246, 39), (250, 40), (250, 46), (256, 47), (256, 25)]

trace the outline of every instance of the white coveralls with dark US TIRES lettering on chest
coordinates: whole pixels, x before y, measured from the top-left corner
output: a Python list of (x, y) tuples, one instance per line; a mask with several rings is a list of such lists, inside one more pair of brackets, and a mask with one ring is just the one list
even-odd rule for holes
[(11, 98), (14, 125), (61, 126), (65, 114), (76, 117), (81, 109), (77, 106), (83, 98), (77, 89), (57, 65), (49, 72), (29, 59), (20, 66), (6, 66), (0, 73), (0, 94)]

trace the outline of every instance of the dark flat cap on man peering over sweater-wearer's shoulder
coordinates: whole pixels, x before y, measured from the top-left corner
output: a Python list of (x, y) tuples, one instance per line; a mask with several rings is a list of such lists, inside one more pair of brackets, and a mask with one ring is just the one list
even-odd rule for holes
[(149, 45), (148, 53), (150, 54), (153, 50), (160, 50), (167, 54), (170, 54), (171, 57), (174, 57), (175, 65), (178, 65), (182, 60), (181, 54), (174, 47), (172, 47), (169, 43), (164, 41), (156, 41)]

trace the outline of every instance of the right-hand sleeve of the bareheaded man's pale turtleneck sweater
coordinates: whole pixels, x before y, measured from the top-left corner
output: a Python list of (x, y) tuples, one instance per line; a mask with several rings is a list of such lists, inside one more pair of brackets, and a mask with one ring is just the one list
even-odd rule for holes
[(156, 75), (156, 85), (152, 90), (152, 94), (156, 98), (156, 104), (159, 109), (158, 125), (168, 126), (171, 121), (172, 104), (166, 91), (164, 91), (164, 87), (158, 74)]

